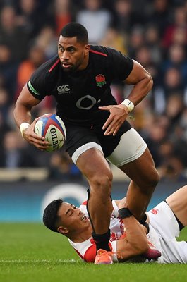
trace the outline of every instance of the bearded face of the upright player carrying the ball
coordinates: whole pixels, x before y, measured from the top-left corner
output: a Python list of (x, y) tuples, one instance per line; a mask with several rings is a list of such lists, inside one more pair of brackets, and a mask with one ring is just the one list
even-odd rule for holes
[(80, 71), (88, 65), (90, 45), (77, 42), (76, 37), (59, 37), (58, 54), (66, 72)]

